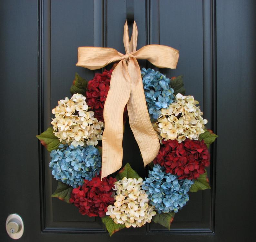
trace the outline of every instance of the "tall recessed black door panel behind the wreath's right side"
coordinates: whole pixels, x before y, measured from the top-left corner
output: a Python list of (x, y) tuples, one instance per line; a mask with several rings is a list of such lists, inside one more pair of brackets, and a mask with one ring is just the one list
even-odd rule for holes
[[(204, 56), (204, 52), (211, 52), (211, 32), (206, 32), (211, 26), (204, 25), (211, 21), (211, 2), (152, 1), (152, 4), (151, 9), (154, 9), (154, 12), (151, 18), (158, 19), (157, 22), (159, 22), (159, 26), (151, 28), (151, 34), (155, 35), (154, 43), (171, 46), (180, 51), (177, 69), (162, 69), (161, 71), (170, 77), (183, 75), (186, 94), (193, 95), (199, 101), (203, 112), (211, 110), (210, 89), (204, 89), (205, 84), (209, 86), (211, 84), (209, 69), (211, 55)], [(207, 49), (203, 49), (204, 43), (207, 42), (209, 43)], [(208, 65), (204, 66), (204, 63)], [(204, 113), (204, 117), (209, 121), (212, 115), (211, 112)], [(207, 126), (211, 127), (211, 122)], [(211, 162), (214, 165), (213, 157)], [(208, 173), (211, 173), (210, 169)], [(175, 214), (170, 231), (151, 223), (148, 232), (212, 233), (211, 204), (214, 201), (211, 192), (214, 191), (190, 193), (190, 200), (182, 208), (182, 212)]]

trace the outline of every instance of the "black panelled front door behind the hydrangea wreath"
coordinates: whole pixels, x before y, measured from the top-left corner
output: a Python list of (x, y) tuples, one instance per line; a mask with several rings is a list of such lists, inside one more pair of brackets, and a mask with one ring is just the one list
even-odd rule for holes
[[(57, 101), (70, 95), (75, 72), (94, 76), (75, 66), (77, 47), (124, 52), (127, 6), (125, 0), (0, 2), (1, 241), (12, 241), (5, 231), (11, 213), (24, 220), (24, 242), (253, 241), (255, 1), (134, 1), (138, 49), (162, 44), (180, 51), (177, 69), (161, 72), (184, 75), (186, 93), (200, 102), (208, 128), (219, 135), (211, 147), (212, 189), (191, 194), (170, 231), (151, 223), (110, 238), (100, 219), (51, 198), (57, 183), (35, 135), (50, 126)], [(129, 125), (124, 140), (123, 163), (144, 175)]]

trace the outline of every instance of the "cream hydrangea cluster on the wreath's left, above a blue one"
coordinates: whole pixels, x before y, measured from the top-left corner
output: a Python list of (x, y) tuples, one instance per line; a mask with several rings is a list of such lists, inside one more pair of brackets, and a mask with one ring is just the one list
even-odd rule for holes
[(102, 140), (103, 122), (94, 118), (94, 112), (88, 111), (85, 97), (74, 94), (69, 100), (60, 100), (53, 109), (55, 118), (51, 122), (54, 134), (61, 142), (72, 143), (74, 147), (80, 145), (97, 145)]

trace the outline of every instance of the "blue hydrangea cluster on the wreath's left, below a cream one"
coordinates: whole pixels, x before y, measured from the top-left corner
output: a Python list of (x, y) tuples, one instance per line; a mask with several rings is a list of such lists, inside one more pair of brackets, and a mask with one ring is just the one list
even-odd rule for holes
[(92, 180), (101, 170), (99, 150), (92, 145), (60, 145), (59, 149), (52, 150), (50, 156), (49, 167), (54, 178), (74, 188), (82, 185), (84, 179)]

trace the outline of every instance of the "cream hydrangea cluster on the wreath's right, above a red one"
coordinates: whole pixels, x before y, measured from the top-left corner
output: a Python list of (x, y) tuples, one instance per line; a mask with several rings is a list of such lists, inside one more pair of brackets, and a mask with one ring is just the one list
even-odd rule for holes
[(162, 115), (153, 124), (160, 135), (160, 141), (177, 139), (181, 143), (186, 138), (197, 140), (204, 133), (207, 120), (202, 118), (203, 113), (196, 104), (198, 101), (193, 96), (177, 94), (174, 103), (162, 108)]

